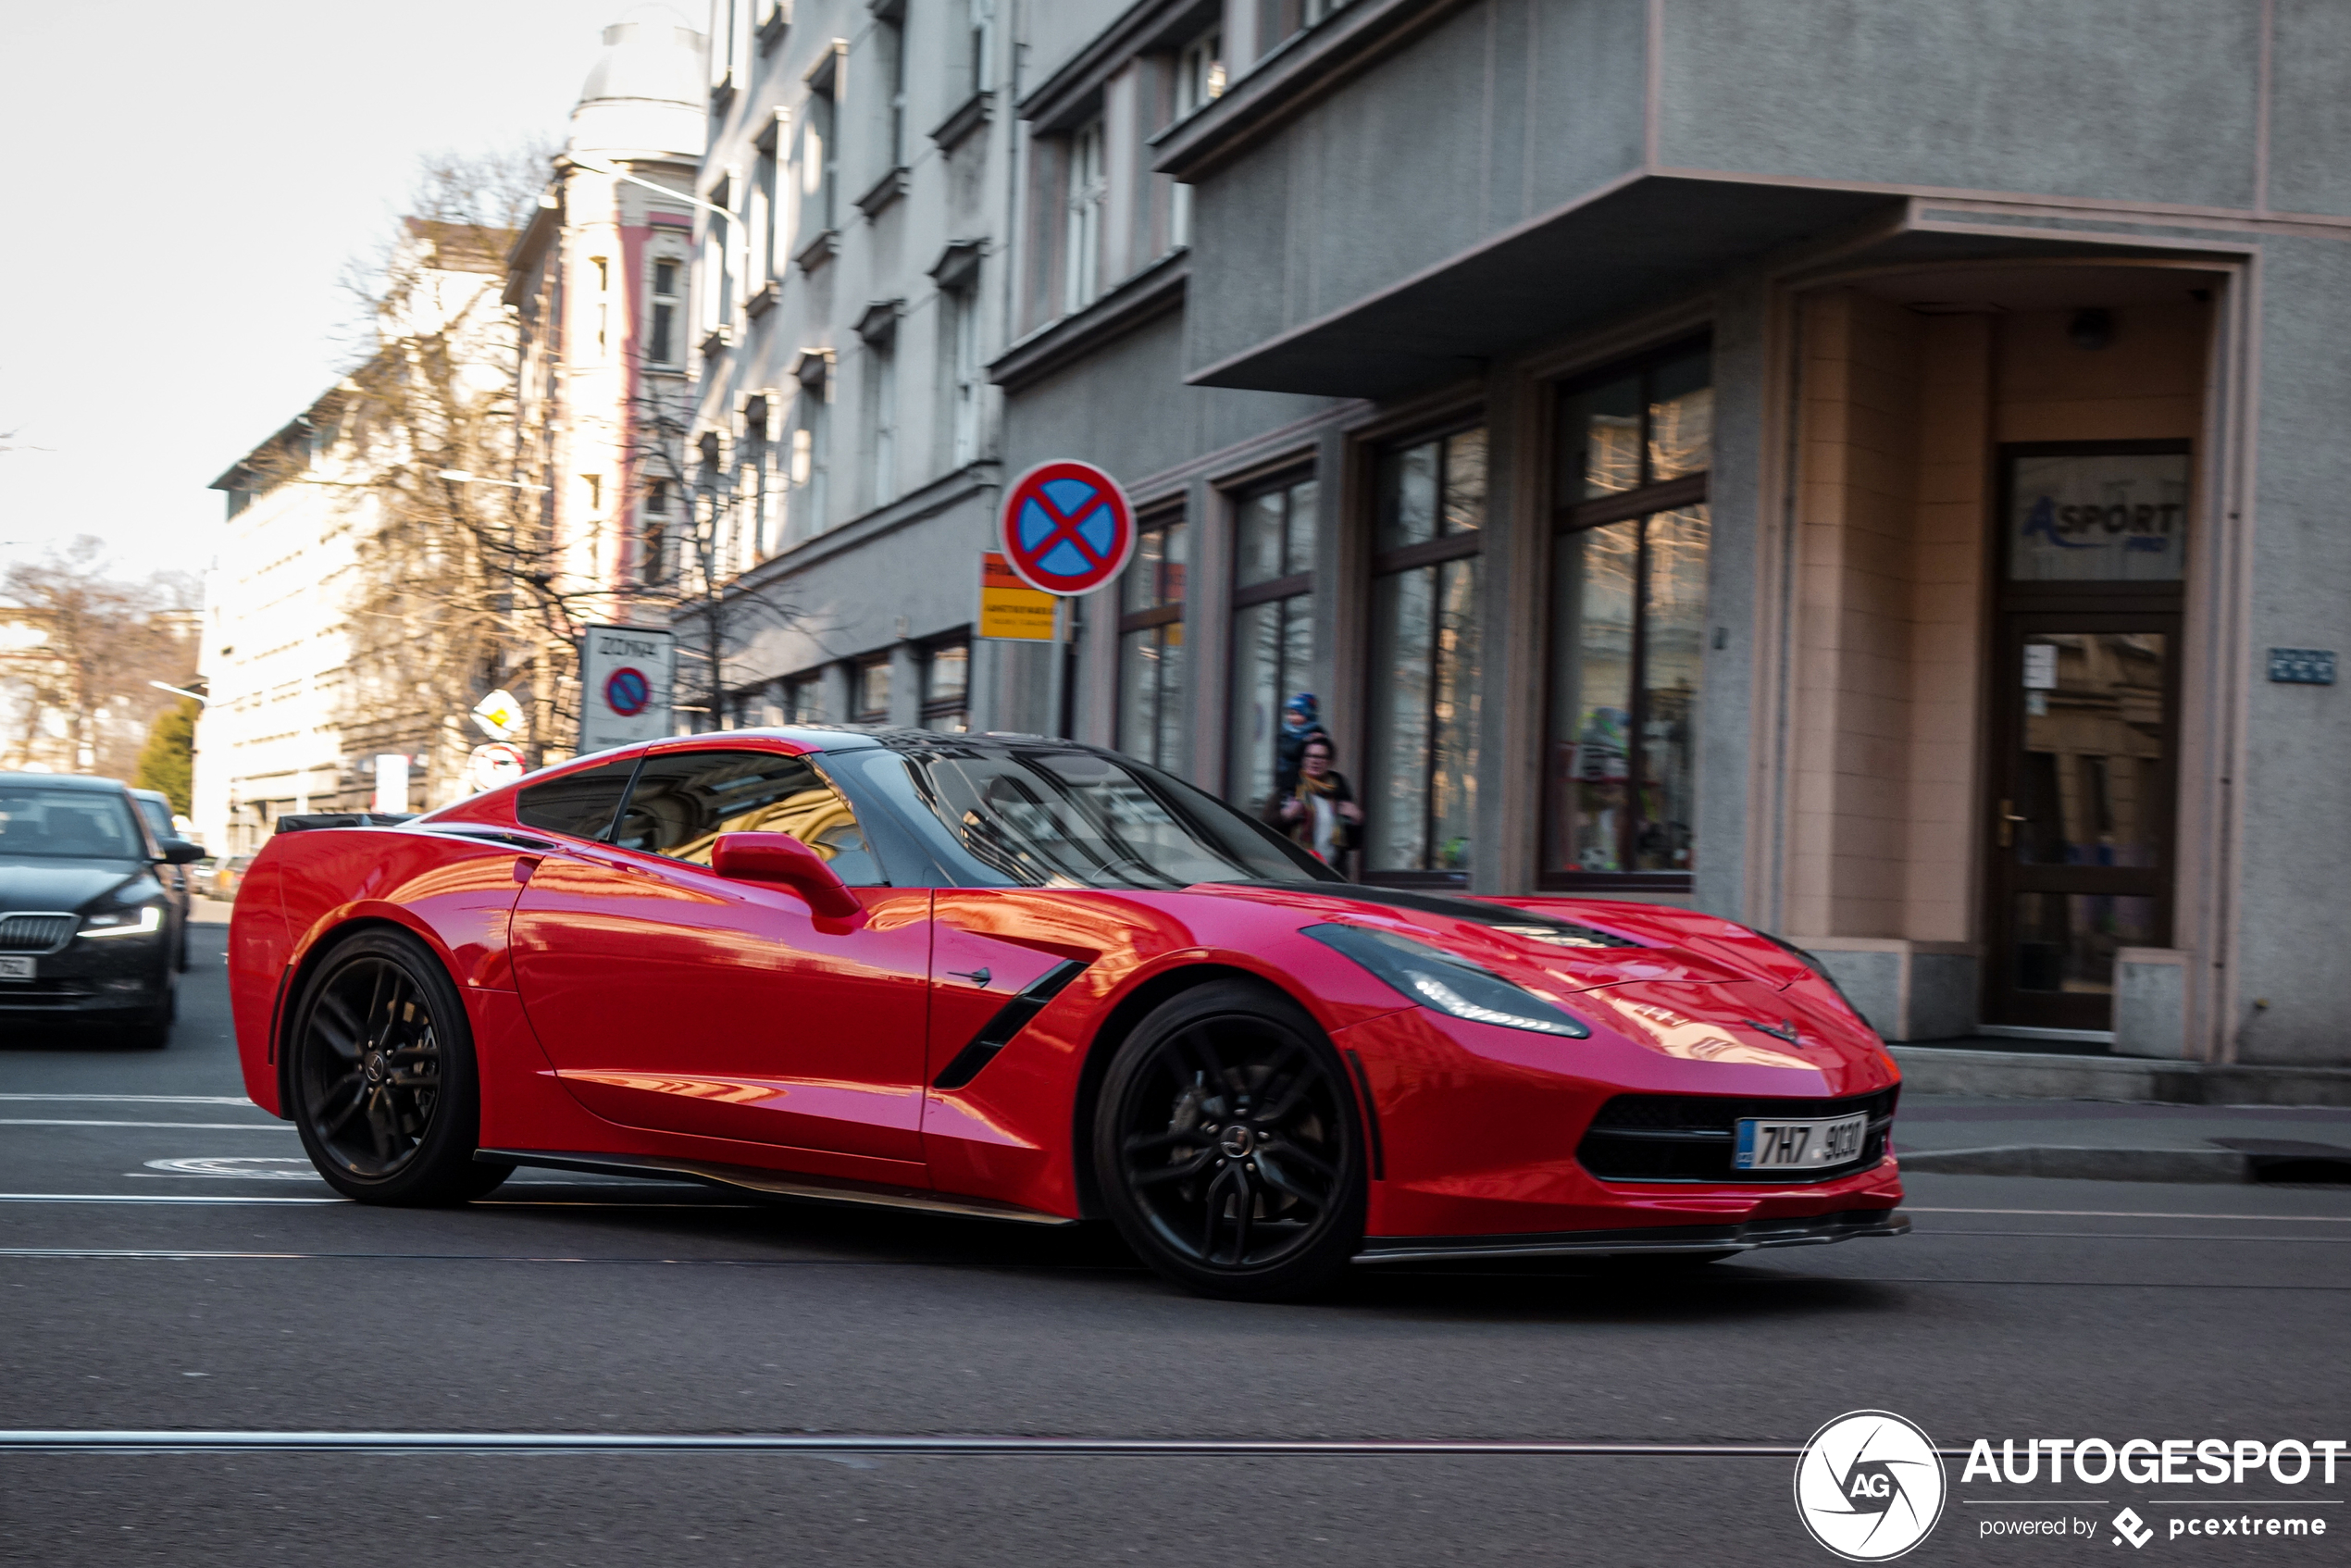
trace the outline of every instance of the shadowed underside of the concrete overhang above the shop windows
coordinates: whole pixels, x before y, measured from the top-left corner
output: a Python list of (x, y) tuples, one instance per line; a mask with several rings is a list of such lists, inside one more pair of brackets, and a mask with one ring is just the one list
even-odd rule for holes
[[(1683, 174), (1629, 174), (1317, 320), (1201, 364), (1192, 386), (1399, 397), (1479, 374), (1542, 343), (1643, 306), (1702, 292), (1766, 256), (1820, 244), (1888, 263), (2034, 256), (2184, 261), (2189, 252), (2125, 233), (1984, 230), (1961, 214), (1937, 223), (1930, 197), (1886, 188), (1780, 186)], [(1853, 249), (1838, 235), (1876, 237)], [(2226, 247), (2217, 247), (2226, 249)], [(1794, 259), (1794, 256), (1789, 256)], [(1215, 299), (1197, 275), (1194, 308)]]

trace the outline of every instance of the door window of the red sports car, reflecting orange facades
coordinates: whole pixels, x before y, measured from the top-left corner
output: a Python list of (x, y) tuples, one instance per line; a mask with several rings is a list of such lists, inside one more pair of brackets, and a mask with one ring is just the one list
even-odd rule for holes
[(722, 832), (788, 832), (832, 863), (849, 886), (884, 886), (856, 811), (806, 757), (696, 750), (647, 757), (614, 842), (710, 865)]

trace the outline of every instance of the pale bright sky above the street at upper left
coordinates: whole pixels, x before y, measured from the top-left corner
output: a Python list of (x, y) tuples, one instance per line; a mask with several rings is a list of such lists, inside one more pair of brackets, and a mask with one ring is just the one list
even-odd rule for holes
[[(430, 153), (560, 143), (630, 0), (0, 0), (0, 564), (202, 571), (230, 463), (348, 364)], [(672, 7), (701, 16), (701, 0)]]

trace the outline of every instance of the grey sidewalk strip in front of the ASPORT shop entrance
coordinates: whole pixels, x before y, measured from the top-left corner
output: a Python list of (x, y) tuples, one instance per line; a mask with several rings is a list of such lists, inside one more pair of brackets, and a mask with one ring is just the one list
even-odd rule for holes
[(2109, 1182), (2351, 1182), (2351, 1110), (1994, 1100), (1904, 1088), (1904, 1171)]

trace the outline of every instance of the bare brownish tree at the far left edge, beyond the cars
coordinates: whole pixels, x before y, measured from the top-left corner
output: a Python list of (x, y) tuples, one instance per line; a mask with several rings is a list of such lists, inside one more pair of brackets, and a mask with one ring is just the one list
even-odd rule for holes
[(125, 576), (92, 534), (0, 571), (0, 769), (129, 778), (174, 703), (148, 682), (195, 675), (193, 604), (190, 578)]

